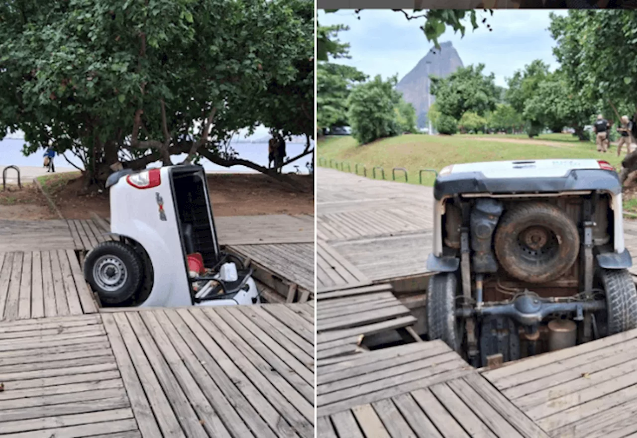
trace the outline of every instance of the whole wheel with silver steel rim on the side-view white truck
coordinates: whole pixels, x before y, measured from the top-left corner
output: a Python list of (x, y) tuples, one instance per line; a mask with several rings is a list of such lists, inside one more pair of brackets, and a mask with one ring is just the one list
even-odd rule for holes
[(121, 304), (141, 286), (143, 264), (130, 245), (99, 243), (84, 260), (84, 278), (104, 304)]

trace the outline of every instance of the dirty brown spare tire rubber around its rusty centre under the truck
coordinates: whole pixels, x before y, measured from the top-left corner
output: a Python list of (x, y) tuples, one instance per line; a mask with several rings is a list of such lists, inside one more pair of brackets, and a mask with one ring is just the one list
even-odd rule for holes
[[(520, 232), (538, 224), (552, 230), (559, 241), (557, 257), (545, 263), (532, 263), (519, 256)], [(536, 284), (560, 278), (573, 266), (580, 251), (580, 233), (575, 222), (562, 209), (547, 202), (524, 202), (506, 211), (493, 241), (501, 267), (519, 280)]]

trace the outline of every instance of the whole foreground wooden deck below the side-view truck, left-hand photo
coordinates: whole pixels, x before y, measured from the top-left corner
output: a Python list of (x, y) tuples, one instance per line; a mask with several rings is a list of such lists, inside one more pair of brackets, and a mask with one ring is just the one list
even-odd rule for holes
[(314, 436), (313, 308), (0, 323), (0, 436)]

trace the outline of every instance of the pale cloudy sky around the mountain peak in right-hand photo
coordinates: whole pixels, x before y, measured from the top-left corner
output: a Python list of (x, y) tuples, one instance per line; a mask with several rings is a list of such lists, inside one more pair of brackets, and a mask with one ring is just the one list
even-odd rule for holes
[[(555, 41), (547, 31), (550, 24), (547, 10), (496, 10), (493, 15), (483, 11), (478, 17), (486, 17), (493, 31), (483, 25), (464, 36), (452, 29), (439, 41), (452, 41), (462, 63), (485, 64), (485, 72), (496, 75), (496, 84), (505, 86), (505, 77), (512, 76), (534, 59), (542, 59), (552, 68), (557, 67), (552, 52)], [(555, 11), (564, 15), (565, 11)], [(406, 20), (404, 15), (391, 10), (362, 10), (357, 19), (354, 10), (338, 10), (335, 13), (318, 11), (320, 25), (345, 24), (349, 31), (340, 32), (339, 39), (350, 43), (352, 59), (337, 60), (357, 67), (369, 76), (381, 74), (383, 78), (398, 74), (399, 80), (415, 67), (427, 54), (431, 43), (427, 42), (419, 27), (424, 19)], [(480, 21), (480, 20), (479, 20)], [(466, 24), (469, 24), (467, 20)]]

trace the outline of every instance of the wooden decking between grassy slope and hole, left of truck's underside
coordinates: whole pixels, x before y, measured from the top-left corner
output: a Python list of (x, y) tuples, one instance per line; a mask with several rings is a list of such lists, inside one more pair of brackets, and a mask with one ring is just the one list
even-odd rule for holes
[(431, 187), (317, 172), (318, 290), (429, 274)]

